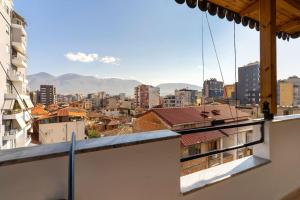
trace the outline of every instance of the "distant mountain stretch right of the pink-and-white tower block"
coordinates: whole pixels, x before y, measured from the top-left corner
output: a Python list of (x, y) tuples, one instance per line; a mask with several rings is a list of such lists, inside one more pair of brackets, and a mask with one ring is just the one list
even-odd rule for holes
[(201, 87), (199, 87), (197, 85), (187, 84), (187, 83), (163, 83), (163, 84), (159, 84), (157, 87), (160, 88), (161, 96), (165, 96), (168, 94), (174, 94), (174, 91), (176, 89), (187, 88), (187, 89), (191, 89), (191, 90), (199, 90), (199, 91), (201, 90)]

